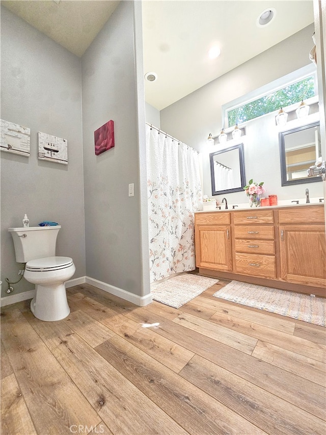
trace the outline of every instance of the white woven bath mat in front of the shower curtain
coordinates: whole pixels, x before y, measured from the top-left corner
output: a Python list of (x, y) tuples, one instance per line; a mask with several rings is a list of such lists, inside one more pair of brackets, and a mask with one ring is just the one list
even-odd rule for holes
[(219, 279), (195, 275), (194, 273), (182, 273), (163, 283), (154, 285), (151, 293), (157, 302), (173, 308), (180, 308), (218, 282)]

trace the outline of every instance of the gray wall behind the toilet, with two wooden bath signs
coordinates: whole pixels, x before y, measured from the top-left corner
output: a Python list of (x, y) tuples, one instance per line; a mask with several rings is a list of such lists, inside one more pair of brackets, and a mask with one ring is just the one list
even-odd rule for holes
[[(1, 280), (18, 279), (7, 228), (53, 220), (62, 225), (57, 254), (84, 276), (85, 226), (80, 60), (1, 8), (1, 118), (31, 129), (29, 158), (1, 152)], [(68, 166), (37, 159), (37, 132), (68, 139)], [(15, 293), (35, 286), (25, 279)], [(2, 296), (6, 286), (2, 286)]]

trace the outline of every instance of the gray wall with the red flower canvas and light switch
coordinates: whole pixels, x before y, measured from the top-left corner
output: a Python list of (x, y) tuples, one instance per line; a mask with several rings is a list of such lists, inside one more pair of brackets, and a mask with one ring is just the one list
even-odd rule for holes
[[(88, 276), (143, 295), (149, 293), (149, 278), (147, 290), (142, 285), (149, 262), (142, 250), (139, 182), (145, 101), (143, 94), (137, 97), (142, 41), (140, 29), (134, 29), (141, 27), (139, 18), (134, 23), (134, 8), (139, 13), (141, 3), (121, 2), (82, 58), (86, 264)], [(95, 156), (93, 132), (110, 119), (115, 147)], [(129, 183), (134, 183), (133, 197), (128, 197)], [(144, 249), (148, 252), (148, 244)]]

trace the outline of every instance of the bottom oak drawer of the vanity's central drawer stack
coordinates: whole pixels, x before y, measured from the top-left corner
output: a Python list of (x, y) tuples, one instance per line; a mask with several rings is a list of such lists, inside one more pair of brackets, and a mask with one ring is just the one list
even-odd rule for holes
[(275, 257), (273, 255), (235, 254), (235, 269), (244, 275), (275, 278)]

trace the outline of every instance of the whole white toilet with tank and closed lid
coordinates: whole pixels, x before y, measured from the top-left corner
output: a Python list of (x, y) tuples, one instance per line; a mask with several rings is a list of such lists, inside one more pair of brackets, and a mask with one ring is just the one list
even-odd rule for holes
[(36, 287), (32, 313), (46, 322), (64, 319), (70, 313), (65, 282), (76, 268), (71, 258), (56, 257), (60, 228), (60, 225), (8, 228), (17, 263), (26, 263), (24, 278)]

